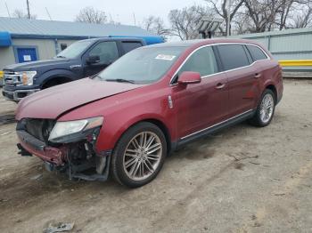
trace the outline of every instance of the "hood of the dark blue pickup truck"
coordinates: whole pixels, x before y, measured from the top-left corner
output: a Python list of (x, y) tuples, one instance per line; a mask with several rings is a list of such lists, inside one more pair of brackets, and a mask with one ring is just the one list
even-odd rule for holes
[(69, 59), (52, 59), (52, 60), (37, 60), (37, 61), (29, 61), (23, 63), (12, 64), (6, 66), (4, 69), (14, 70), (14, 71), (29, 71), (29, 70), (37, 70), (37, 68), (44, 68), (51, 66), (60, 66), (62, 64), (66, 64)]

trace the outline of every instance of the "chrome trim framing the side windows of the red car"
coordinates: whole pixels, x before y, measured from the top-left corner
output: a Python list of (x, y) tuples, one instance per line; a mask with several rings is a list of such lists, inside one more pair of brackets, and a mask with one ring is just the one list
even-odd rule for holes
[[(271, 60), (270, 56), (268, 56), (267, 52), (264, 51), (263, 48), (261, 48), (259, 45), (257, 44), (250, 44), (250, 43), (239, 43), (239, 42), (226, 42), (226, 43), (217, 43), (217, 44), (205, 44), (205, 45), (202, 45), (201, 47), (198, 47), (197, 49), (195, 49), (193, 52), (191, 52), (187, 57), (186, 59), (182, 62), (182, 64), (177, 68), (176, 72), (174, 73), (173, 76), (171, 76), (171, 79), (170, 79), (170, 83), (169, 85), (172, 86), (172, 85), (177, 85), (176, 84), (172, 84), (172, 81), (174, 79), (175, 76), (177, 76), (177, 73), (180, 71), (180, 69), (185, 65), (185, 62), (187, 60), (189, 60), (189, 58), (193, 55), (194, 52), (197, 52), (198, 50), (202, 49), (202, 48), (205, 48), (205, 47), (209, 47), (209, 46), (214, 46), (214, 45), (222, 45), (222, 44), (241, 44), (241, 45), (251, 45), (251, 46), (255, 46), (255, 47), (258, 47), (262, 52), (265, 53), (265, 55), (267, 56), (267, 59), (263, 59), (263, 60)], [(252, 57), (251, 57), (252, 58)], [(234, 71), (234, 70), (238, 70), (238, 69), (241, 69), (241, 68), (248, 68), (248, 67), (251, 67), (253, 64), (255, 64), (256, 62), (258, 61), (262, 61), (262, 60), (255, 60), (253, 61), (252, 63), (250, 63), (250, 65), (248, 66), (244, 66), (244, 67), (240, 67), (240, 68), (232, 68), (232, 69), (228, 69), (228, 70), (225, 70), (225, 71), (220, 71), (220, 72), (217, 72), (217, 73), (214, 73), (214, 74), (211, 74), (211, 75), (208, 75), (208, 76), (201, 76), (201, 79), (202, 78), (206, 78), (206, 77), (209, 77), (209, 76), (215, 76), (215, 75), (218, 75), (218, 74), (224, 74), (224, 73), (227, 73), (227, 72), (230, 72), (230, 71)]]

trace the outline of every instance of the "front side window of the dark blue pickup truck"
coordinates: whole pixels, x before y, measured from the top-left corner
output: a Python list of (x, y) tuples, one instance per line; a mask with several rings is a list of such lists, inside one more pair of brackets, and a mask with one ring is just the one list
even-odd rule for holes
[(117, 44), (113, 41), (96, 44), (89, 52), (89, 56), (99, 56), (101, 64), (111, 64), (119, 58)]

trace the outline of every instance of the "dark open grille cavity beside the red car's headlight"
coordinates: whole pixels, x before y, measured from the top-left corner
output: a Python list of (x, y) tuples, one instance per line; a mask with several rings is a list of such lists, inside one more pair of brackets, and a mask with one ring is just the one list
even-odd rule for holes
[(38, 140), (47, 142), (54, 125), (55, 121), (49, 119), (25, 118), (18, 123), (17, 129), (25, 130)]

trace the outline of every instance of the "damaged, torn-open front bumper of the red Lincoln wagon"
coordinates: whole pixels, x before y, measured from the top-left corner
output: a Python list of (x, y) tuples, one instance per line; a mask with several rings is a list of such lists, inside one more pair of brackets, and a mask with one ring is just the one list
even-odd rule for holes
[[(17, 130), (20, 143), (17, 145), (21, 156), (41, 158), (47, 170), (65, 171), (70, 179), (77, 178), (86, 181), (106, 181), (109, 175), (111, 153), (94, 152), (88, 141), (78, 141), (71, 144), (49, 146), (25, 130)], [(85, 151), (84, 151), (85, 150)], [(101, 155), (105, 155), (104, 157)]]

